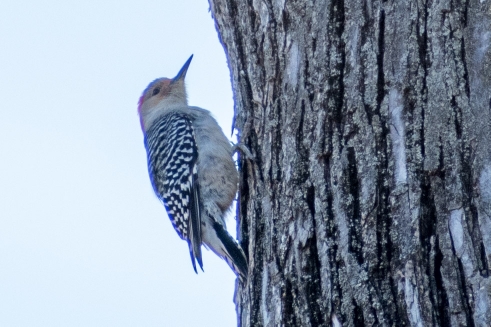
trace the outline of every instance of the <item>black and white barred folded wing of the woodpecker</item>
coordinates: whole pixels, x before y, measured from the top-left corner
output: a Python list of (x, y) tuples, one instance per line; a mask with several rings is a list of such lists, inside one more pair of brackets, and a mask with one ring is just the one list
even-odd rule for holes
[(198, 149), (193, 126), (182, 115), (165, 115), (147, 132), (145, 146), (155, 193), (179, 236), (188, 242), (194, 270), (195, 259), (203, 269)]

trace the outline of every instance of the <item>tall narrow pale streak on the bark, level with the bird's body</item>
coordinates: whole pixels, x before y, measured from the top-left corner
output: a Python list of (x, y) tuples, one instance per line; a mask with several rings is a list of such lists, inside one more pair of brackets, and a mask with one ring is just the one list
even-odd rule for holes
[(396, 183), (405, 183), (407, 179), (406, 148), (404, 144), (404, 121), (402, 120), (401, 95), (397, 90), (389, 92), (390, 138), (395, 159)]

